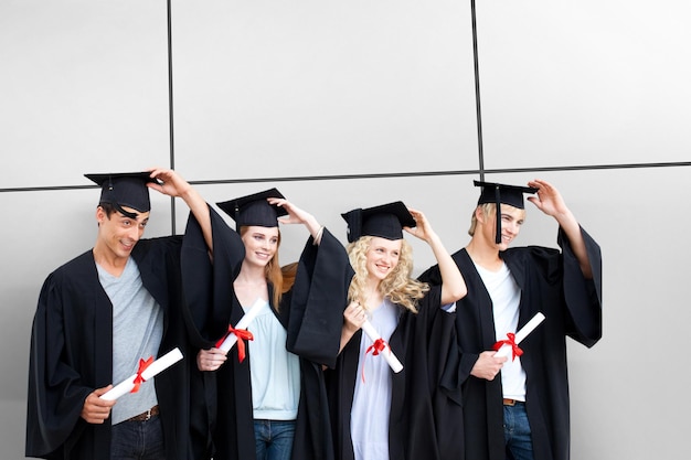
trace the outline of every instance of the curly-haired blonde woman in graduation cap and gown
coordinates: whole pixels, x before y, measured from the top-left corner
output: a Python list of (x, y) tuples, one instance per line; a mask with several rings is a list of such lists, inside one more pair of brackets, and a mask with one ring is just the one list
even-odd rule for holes
[[(342, 350), (336, 367), (326, 371), (336, 457), (460, 458), (453, 309), (466, 295), (463, 276), (425, 215), (402, 202), (353, 210), (343, 218), (354, 276)], [(403, 229), (432, 248), (440, 287), (411, 278), (413, 255)], [(361, 331), (365, 320), (402, 362), (401, 372), (375, 353), (378, 345)]]

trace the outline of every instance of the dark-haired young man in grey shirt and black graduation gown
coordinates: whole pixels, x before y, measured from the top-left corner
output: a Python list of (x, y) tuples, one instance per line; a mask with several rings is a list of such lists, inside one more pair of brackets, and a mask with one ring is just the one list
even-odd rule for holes
[[(86, 175), (102, 186), (96, 243), (53, 271), (41, 290), (31, 336), (25, 454), (193, 458), (181, 263), (185, 240), (142, 235), (149, 189), (155, 189), (187, 203), (188, 227), (196, 228), (198, 246), (208, 256), (210, 208), (172, 170)], [(140, 370), (139, 360), (176, 347), (185, 355), (182, 362), (143, 382), (136, 393), (100, 398)]]

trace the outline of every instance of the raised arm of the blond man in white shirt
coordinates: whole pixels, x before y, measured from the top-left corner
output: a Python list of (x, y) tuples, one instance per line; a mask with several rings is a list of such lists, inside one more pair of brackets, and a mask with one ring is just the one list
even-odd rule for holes
[(583, 234), (581, 233), (581, 225), (578, 225), (578, 221), (576, 221), (576, 217), (566, 206), (566, 203), (564, 202), (564, 199), (560, 194), (559, 190), (556, 190), (556, 188), (554, 188), (551, 183), (540, 179), (528, 182), (528, 186), (538, 189), (538, 196), (529, 196), (528, 201), (538, 206), (538, 208), (546, 215), (556, 220), (571, 243), (571, 248), (573, 249), (576, 259), (578, 259), (578, 265), (581, 266), (583, 276), (587, 279), (592, 279), (593, 272), (591, 270), (591, 261), (585, 248)]

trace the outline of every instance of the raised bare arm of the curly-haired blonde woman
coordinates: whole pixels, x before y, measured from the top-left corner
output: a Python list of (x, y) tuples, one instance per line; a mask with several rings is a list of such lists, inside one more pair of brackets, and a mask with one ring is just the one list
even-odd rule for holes
[(404, 229), (411, 235), (427, 242), (437, 259), (439, 274), (442, 275), (442, 303), (447, 304), (464, 298), (468, 293), (466, 281), (456, 263), (442, 244), (442, 239), (432, 229), (432, 225), (422, 212), (408, 211), (417, 225), (414, 228), (404, 227)]

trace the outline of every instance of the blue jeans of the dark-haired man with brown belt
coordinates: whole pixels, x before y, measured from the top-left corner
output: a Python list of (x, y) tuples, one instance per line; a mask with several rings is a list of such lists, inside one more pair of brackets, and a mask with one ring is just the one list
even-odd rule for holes
[(110, 460), (166, 460), (163, 428), (155, 415), (146, 421), (121, 421), (110, 429)]

